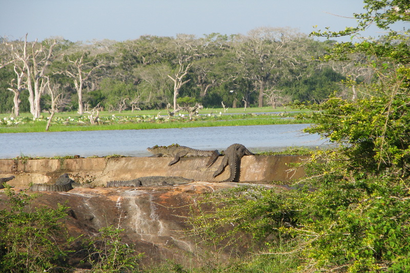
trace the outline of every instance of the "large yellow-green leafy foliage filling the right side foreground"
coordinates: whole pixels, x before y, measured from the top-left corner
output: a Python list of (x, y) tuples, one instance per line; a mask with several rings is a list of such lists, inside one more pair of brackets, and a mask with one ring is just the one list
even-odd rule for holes
[(269, 190), (256, 198), (234, 193), (198, 223), (201, 230), (223, 239), (226, 233), (215, 233), (216, 227), (234, 223), (231, 238), (247, 232), (271, 242), (275, 254), (277, 238), (285, 238), (290, 250), (283, 255), (297, 254), (300, 262), (294, 272), (410, 271), (409, 36), (389, 28), (408, 22), (410, 5), (364, 3), (367, 12), (355, 14), (358, 28), (315, 33), (352, 34), (372, 22), (388, 32), (379, 40), (337, 44), (324, 57), (345, 61), (361, 54), (377, 75), (372, 85), (347, 82), (359, 91), (352, 99), (304, 106), (314, 121), (306, 132), (329, 137), (338, 148), (315, 152), (304, 164), (308, 178), (280, 197)]

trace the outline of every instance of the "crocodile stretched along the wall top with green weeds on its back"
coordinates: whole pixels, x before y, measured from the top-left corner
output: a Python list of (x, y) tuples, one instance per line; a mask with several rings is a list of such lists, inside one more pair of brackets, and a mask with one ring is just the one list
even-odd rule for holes
[(147, 151), (153, 153), (152, 157), (174, 157), (174, 159), (168, 164), (169, 166), (179, 161), (181, 157), (205, 157), (210, 156), (206, 166), (211, 166), (217, 159), (219, 154), (218, 150), (196, 150), (186, 146), (180, 146), (178, 144), (172, 144), (169, 146), (153, 146), (147, 148)]

